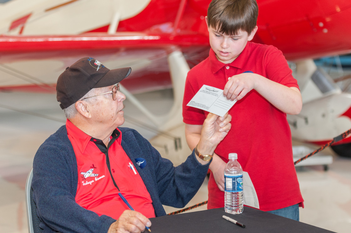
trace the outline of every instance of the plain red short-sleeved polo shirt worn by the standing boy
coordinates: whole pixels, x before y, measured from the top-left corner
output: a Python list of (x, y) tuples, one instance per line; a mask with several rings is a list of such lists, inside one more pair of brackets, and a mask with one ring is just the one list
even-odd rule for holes
[[(209, 57), (189, 72), (185, 83), (183, 121), (202, 125), (208, 112), (186, 106), (205, 84), (224, 89), (228, 78), (252, 71), (287, 87), (297, 87), (283, 54), (273, 46), (247, 42), (243, 52), (230, 64)], [(293, 163), (292, 142), (286, 114), (251, 90), (229, 110), (232, 127), (218, 144), (216, 154), (228, 162), (229, 153), (237, 153), (243, 170), (248, 172), (256, 189), (259, 206), (271, 211), (303, 202)], [(208, 208), (224, 206), (224, 192), (210, 175)]]

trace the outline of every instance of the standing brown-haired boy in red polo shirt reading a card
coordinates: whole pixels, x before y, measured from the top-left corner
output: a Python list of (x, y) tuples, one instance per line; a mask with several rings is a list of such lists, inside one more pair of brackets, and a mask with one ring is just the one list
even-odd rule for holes
[(208, 7), (210, 54), (188, 72), (185, 84), (186, 141), (191, 149), (196, 147), (208, 114), (186, 106), (188, 102), (204, 84), (224, 89), (224, 96), (237, 102), (229, 111), (232, 129), (218, 144), (210, 165), (207, 208), (224, 207), (224, 167), (228, 154), (237, 153), (260, 209), (299, 220), (303, 198), (286, 114), (298, 114), (302, 98), (282, 52), (250, 42), (257, 16), (255, 0), (213, 0)]

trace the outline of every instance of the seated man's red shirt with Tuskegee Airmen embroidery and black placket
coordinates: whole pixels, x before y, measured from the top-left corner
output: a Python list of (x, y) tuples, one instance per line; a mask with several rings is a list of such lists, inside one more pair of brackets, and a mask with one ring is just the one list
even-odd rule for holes
[(69, 120), (66, 121), (66, 128), (78, 165), (75, 201), (99, 216), (104, 214), (114, 219), (118, 219), (123, 211), (129, 209), (119, 197), (119, 191), (111, 179), (106, 165), (107, 153), (111, 174), (120, 192), (135, 211), (147, 218), (155, 217), (150, 194), (133, 162), (121, 147), (122, 135), (118, 128), (112, 134), (114, 138), (110, 137), (110, 140), (115, 140), (108, 150), (101, 140), (85, 134)]

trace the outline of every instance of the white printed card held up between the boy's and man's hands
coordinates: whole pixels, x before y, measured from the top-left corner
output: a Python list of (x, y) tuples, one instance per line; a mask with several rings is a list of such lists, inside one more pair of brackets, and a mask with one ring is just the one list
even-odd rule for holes
[(223, 90), (203, 85), (186, 106), (224, 116), (236, 102), (236, 100), (227, 100), (223, 96)]

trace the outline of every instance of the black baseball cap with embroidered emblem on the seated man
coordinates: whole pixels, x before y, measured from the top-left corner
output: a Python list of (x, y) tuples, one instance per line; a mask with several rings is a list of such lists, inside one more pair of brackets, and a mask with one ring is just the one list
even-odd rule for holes
[(91, 89), (117, 84), (131, 71), (130, 67), (108, 69), (94, 58), (81, 58), (59, 76), (56, 85), (57, 101), (65, 109)]

